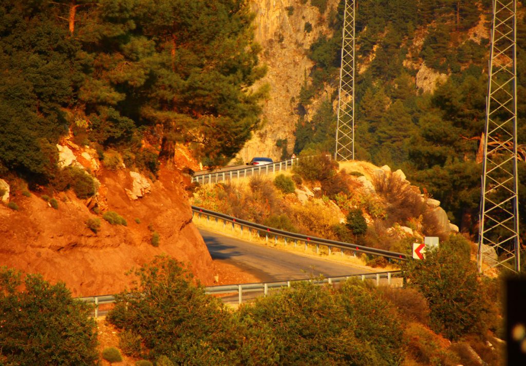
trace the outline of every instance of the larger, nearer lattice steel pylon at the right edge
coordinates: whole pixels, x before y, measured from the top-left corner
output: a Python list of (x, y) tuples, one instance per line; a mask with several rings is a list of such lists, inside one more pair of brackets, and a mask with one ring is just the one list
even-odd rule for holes
[[(520, 269), (516, 9), (516, 0), (493, 1), (480, 204), (481, 272), (492, 267)], [(488, 267), (482, 266), (483, 259)]]

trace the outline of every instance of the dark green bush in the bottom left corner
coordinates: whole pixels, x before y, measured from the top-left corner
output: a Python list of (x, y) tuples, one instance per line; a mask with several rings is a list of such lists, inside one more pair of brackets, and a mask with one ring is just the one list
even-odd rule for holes
[(98, 359), (97, 328), (89, 307), (64, 283), (0, 267), (0, 362), (6, 365), (91, 365)]

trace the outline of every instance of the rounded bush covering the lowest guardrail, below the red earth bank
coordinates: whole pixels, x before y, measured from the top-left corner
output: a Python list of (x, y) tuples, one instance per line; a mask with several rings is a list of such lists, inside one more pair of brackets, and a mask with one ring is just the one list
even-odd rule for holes
[(194, 284), (191, 272), (159, 256), (134, 274), (138, 286), (116, 295), (108, 320), (138, 337), (148, 359), (166, 355), (174, 364), (236, 363), (239, 330), (232, 313)]

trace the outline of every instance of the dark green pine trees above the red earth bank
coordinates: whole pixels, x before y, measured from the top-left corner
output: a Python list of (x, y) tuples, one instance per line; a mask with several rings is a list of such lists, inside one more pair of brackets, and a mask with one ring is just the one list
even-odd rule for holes
[(244, 1), (0, 5), (0, 175), (60, 189), (55, 145), (158, 169), (176, 144), (221, 164), (258, 125), (264, 75)]

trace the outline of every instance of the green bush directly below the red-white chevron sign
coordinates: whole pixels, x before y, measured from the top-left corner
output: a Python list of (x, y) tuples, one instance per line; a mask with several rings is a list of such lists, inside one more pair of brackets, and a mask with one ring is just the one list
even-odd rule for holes
[(404, 278), (429, 302), (430, 326), (455, 340), (470, 332), (482, 334), (490, 309), (478, 281), (478, 270), (466, 239), (452, 236), (426, 259), (406, 263)]

